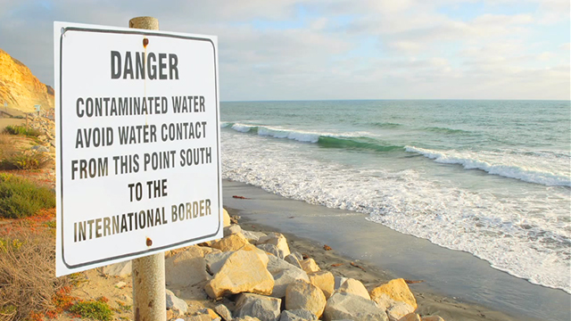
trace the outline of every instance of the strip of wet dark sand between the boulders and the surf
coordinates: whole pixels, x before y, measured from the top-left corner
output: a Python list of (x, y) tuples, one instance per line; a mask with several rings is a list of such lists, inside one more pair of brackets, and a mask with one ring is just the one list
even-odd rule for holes
[[(402, 235), (368, 222), (364, 214), (287, 199), (240, 182), (224, 180), (223, 185), (224, 206), (242, 217), (245, 229), (253, 225), (256, 230), (283, 233), (288, 240), (311, 251), (310, 256), (317, 257), (316, 261), (321, 259), (320, 266), (332, 264), (327, 259), (332, 254), (321, 248), (327, 243), (334, 249), (336, 259), (344, 259), (345, 263), (353, 260), (367, 267), (367, 273), (360, 277), (371, 274), (387, 280), (423, 280), (410, 284), (419, 302), (423, 302), (418, 313), (439, 314), (446, 320), (569, 318), (566, 292), (510, 276), (468, 252)], [(246, 199), (235, 199), (234, 195)], [(326, 221), (327, 230), (323, 228)], [(335, 273), (335, 268), (331, 271)], [(367, 279), (361, 281), (371, 285)], [(498, 291), (501, 287), (504, 288)]]

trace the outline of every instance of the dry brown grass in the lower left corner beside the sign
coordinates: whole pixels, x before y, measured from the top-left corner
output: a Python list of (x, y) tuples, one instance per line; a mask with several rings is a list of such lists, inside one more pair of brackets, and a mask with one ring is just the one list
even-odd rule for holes
[(0, 230), (0, 321), (57, 309), (56, 293), (70, 284), (69, 277), (55, 277), (53, 210), (44, 213)]

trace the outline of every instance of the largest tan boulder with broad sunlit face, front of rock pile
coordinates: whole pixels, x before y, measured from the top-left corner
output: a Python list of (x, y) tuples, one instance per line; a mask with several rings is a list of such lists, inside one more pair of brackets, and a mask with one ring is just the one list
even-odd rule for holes
[(274, 278), (254, 251), (235, 251), (206, 284), (204, 290), (212, 299), (227, 294), (252, 292), (271, 294)]

